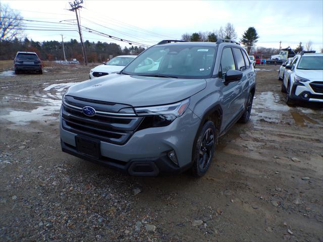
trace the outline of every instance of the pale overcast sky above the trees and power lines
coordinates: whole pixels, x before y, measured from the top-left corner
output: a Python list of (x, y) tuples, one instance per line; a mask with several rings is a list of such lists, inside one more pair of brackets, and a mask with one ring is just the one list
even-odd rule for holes
[[(19, 10), (25, 19), (59, 22), (75, 19), (69, 1), (0, 1)], [(323, 47), (323, 1), (91, 1), (84, 0), (81, 24), (85, 27), (147, 45), (161, 39), (181, 39), (183, 33), (213, 31), (230, 22), (239, 40), (250, 26), (260, 36), (257, 46), (295, 48), (309, 40)], [(92, 22), (90, 22), (92, 21)], [(121, 22), (120, 22), (121, 21)], [(94, 23), (93, 23), (94, 22)], [(46, 27), (46, 23), (43, 27)], [(102, 27), (100, 25), (105, 27)], [(30, 24), (31, 26), (31, 24)], [(38, 25), (39, 26), (39, 25)], [(73, 26), (72, 26), (73, 27)], [(68, 26), (71, 28), (71, 26)], [(79, 40), (76, 31), (26, 31), (35, 41)], [(90, 41), (109, 38), (83, 33)], [(113, 41), (125, 46), (120, 41)], [(129, 45), (127, 45), (129, 46)]]

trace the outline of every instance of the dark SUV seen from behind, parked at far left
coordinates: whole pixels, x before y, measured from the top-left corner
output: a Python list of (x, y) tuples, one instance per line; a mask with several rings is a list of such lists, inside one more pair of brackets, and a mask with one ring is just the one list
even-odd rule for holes
[(14, 59), (15, 74), (37, 72), (42, 74), (40, 58), (35, 52), (18, 51)]

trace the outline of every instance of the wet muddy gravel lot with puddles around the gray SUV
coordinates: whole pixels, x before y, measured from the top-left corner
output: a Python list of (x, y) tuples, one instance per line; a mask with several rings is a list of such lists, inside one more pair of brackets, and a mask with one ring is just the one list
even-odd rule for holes
[(202, 178), (63, 153), (61, 97), (90, 67), (0, 74), (0, 240), (323, 241), (323, 109), (287, 106), (278, 68), (257, 67), (251, 119), (220, 138)]

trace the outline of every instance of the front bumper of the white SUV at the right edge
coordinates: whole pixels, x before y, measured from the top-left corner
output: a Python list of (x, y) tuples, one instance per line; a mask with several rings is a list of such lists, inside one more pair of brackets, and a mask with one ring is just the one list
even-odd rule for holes
[[(308, 83), (294, 82), (290, 97), (296, 101), (323, 102), (323, 93), (316, 93)], [(305, 97), (304, 95), (308, 96)]]

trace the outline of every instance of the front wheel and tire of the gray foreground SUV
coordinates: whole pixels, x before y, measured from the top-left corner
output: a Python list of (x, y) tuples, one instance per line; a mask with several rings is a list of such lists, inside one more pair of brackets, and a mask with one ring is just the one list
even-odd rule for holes
[(193, 176), (201, 177), (210, 166), (219, 132), (213, 122), (207, 121), (197, 135), (198, 137), (193, 147), (191, 172)]

